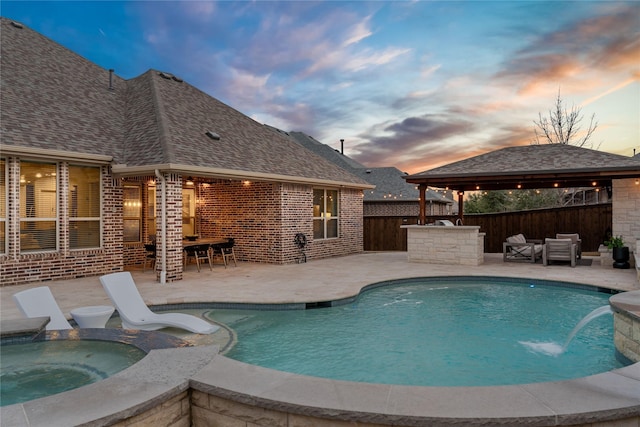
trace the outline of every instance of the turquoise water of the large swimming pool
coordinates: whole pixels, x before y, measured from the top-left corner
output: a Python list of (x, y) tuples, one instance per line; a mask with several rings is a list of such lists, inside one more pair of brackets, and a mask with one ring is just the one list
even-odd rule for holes
[(558, 286), (402, 283), (351, 304), (315, 310), (219, 310), (210, 317), (238, 336), (226, 355), (317, 377), (420, 386), (488, 386), (565, 380), (622, 367), (613, 319), (599, 316), (565, 343), (610, 295)]

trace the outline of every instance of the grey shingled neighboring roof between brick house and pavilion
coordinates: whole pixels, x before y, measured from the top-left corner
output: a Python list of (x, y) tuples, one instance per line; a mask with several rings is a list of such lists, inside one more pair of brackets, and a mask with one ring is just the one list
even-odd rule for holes
[[(375, 185), (374, 189), (364, 192), (365, 202), (416, 201), (420, 197), (416, 186), (408, 184), (402, 178), (406, 173), (395, 167), (369, 168), (303, 132), (284, 132), (279, 129), (273, 129), (289, 135), (307, 149)], [(432, 189), (427, 190), (426, 198), (440, 203), (452, 203), (452, 200)]]

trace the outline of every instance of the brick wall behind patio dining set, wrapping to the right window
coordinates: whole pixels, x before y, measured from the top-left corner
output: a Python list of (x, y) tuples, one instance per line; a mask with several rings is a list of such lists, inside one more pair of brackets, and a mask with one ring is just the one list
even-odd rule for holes
[(297, 233), (307, 236), (307, 259), (362, 251), (362, 192), (340, 190), (340, 235), (313, 239), (313, 188), (307, 185), (219, 181), (199, 190), (200, 235), (233, 237), (239, 260), (274, 264), (300, 257)]

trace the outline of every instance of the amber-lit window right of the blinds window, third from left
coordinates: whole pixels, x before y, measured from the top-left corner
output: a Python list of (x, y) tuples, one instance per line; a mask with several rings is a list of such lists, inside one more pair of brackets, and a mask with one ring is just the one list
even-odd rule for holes
[(100, 247), (100, 168), (69, 166), (69, 248)]

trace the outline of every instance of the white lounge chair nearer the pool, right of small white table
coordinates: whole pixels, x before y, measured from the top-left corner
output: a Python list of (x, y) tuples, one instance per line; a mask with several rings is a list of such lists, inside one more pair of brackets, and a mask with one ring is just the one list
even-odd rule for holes
[(128, 271), (100, 276), (100, 283), (116, 306), (125, 329), (155, 331), (173, 327), (198, 334), (211, 334), (219, 329), (219, 326), (190, 314), (157, 314), (149, 310)]

